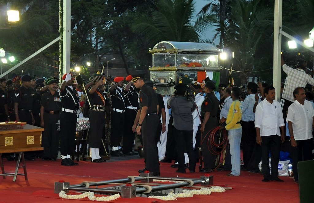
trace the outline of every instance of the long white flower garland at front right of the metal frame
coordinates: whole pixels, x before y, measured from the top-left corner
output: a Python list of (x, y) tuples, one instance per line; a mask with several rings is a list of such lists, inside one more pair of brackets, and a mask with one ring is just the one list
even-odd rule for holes
[(210, 195), (212, 192), (225, 192), (225, 189), (219, 186), (211, 186), (210, 188), (201, 188), (195, 190), (182, 190), (182, 193), (173, 193), (171, 191), (167, 196), (149, 196), (149, 198), (155, 198), (160, 200), (176, 200), (181, 197), (193, 197), (193, 195)]

